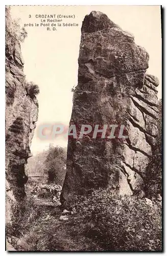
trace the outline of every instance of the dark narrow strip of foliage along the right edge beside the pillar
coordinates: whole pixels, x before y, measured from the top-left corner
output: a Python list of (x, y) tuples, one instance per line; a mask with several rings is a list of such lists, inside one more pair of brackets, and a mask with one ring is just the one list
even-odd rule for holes
[(147, 175), (148, 197), (161, 194), (162, 185), (162, 100), (159, 100), (159, 117), (157, 120), (158, 136), (153, 148), (153, 157)]

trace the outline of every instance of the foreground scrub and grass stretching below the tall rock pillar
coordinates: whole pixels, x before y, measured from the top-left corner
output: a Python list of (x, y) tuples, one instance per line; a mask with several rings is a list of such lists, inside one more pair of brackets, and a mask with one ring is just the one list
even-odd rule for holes
[(41, 216), (21, 238), (18, 250), (160, 251), (161, 206), (145, 199), (116, 197), (97, 190), (76, 197), (76, 214), (68, 221)]

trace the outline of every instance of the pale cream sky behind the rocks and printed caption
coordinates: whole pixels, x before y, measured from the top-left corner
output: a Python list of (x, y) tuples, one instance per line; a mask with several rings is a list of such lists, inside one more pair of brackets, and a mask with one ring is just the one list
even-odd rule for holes
[[(46, 150), (50, 143), (67, 146), (67, 139), (63, 136), (41, 140), (37, 132), (41, 124), (69, 124), (73, 107), (71, 89), (78, 81), (82, 21), (93, 10), (107, 14), (114, 23), (134, 35), (137, 45), (147, 50), (150, 55), (147, 73), (158, 77), (158, 98), (161, 98), (160, 6), (12, 6), (12, 18), (20, 18), (21, 27), (34, 25), (25, 27), (28, 37), (21, 44), (26, 79), (38, 84), (40, 89), (37, 96), (39, 116), (31, 145), (33, 155)], [(75, 15), (75, 18), (63, 18), (63, 23), (78, 26), (61, 26), (47, 31), (46, 27), (40, 26), (43, 22), (39, 15), (48, 14)], [(39, 26), (36, 27), (35, 23)]]

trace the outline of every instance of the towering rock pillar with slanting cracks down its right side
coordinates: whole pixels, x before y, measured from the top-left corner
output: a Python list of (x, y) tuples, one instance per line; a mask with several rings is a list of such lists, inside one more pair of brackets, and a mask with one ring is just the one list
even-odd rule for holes
[(70, 124), (124, 124), (128, 138), (69, 137), (61, 202), (99, 187), (144, 195), (158, 115), (159, 82), (146, 74), (149, 54), (101, 12), (85, 16), (81, 31)]

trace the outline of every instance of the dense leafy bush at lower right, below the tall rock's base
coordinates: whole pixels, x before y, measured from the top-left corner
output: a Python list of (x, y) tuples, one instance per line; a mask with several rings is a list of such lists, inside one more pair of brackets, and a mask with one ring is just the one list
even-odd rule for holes
[[(83, 199), (83, 201), (82, 201)], [(86, 236), (101, 250), (161, 250), (161, 206), (144, 199), (119, 198), (103, 190), (80, 198), (73, 231)]]

